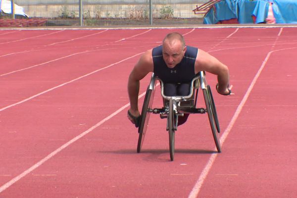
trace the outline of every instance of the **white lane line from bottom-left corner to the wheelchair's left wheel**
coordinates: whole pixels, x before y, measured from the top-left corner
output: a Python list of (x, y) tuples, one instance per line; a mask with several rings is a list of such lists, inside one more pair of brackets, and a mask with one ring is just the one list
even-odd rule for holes
[[(136, 56), (136, 55), (134, 55), (134, 56)], [(116, 64), (116, 63), (114, 63), (114, 64)], [(145, 94), (146, 94), (146, 92), (142, 93), (141, 95), (139, 95), (138, 98), (140, 99)], [(22, 172), (18, 176), (14, 177), (10, 181), (8, 181), (6, 184), (2, 185), (0, 187), (0, 193), (3, 192), (4, 190), (6, 190), (7, 188), (9, 188), (11, 185), (13, 185), (14, 183), (16, 183), (20, 179), (22, 179), (23, 177), (25, 177), (26, 175), (28, 175), (29, 173), (31, 173), (33, 170), (35, 170), (39, 166), (41, 166), (43, 163), (45, 163), (46, 161), (48, 161), (51, 157), (53, 157), (54, 155), (56, 155), (57, 153), (59, 153), (64, 148), (70, 146), (71, 144), (73, 144), (74, 142), (76, 142), (77, 140), (79, 140), (80, 138), (84, 137), (85, 135), (89, 134), (90, 132), (92, 132), (93, 130), (95, 130), (96, 128), (98, 128), (104, 122), (110, 120), (112, 117), (114, 117), (115, 115), (117, 115), (118, 113), (120, 113), (122, 110), (124, 110), (125, 108), (127, 108), (129, 105), (130, 105), (130, 103), (125, 104), (124, 106), (122, 106), (121, 108), (119, 108), (118, 110), (116, 110), (115, 112), (111, 113), (109, 116), (105, 117), (103, 120), (101, 120), (100, 122), (98, 122), (96, 125), (92, 126), (88, 130), (86, 130), (85, 132), (83, 132), (80, 135), (76, 136), (75, 138), (73, 138), (72, 140), (68, 141), (67, 143), (65, 143), (61, 147), (57, 148), (56, 150), (52, 151), (45, 158), (43, 158), (42, 160), (40, 160), (39, 162), (37, 162), (36, 164), (34, 164), (33, 166), (31, 166), (30, 168), (28, 168), (27, 170), (25, 170), (24, 172)]]

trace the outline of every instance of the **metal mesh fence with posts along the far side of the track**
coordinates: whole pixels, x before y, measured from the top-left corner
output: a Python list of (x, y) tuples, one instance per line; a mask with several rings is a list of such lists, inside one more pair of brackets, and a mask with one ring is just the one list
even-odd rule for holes
[[(0, 0), (1, 4), (10, 0)], [(135, 25), (199, 23), (196, 5), (208, 0), (12, 0), (30, 18), (47, 25)], [(2, 10), (1, 6), (1, 10)], [(7, 6), (6, 6), (7, 7)], [(19, 8), (18, 7), (18, 8)], [(1, 15), (4, 13), (1, 11)], [(26, 17), (24, 16), (24, 17)], [(20, 16), (18, 16), (20, 17)]]

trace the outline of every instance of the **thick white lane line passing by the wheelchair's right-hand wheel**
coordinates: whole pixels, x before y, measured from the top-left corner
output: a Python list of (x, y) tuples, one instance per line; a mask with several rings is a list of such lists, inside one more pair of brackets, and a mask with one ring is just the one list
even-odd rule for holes
[[(277, 38), (277, 39), (278, 39), (278, 38)], [(272, 48), (273, 48), (275, 45), (276, 45), (276, 42), (273, 44)], [(296, 48), (287, 48), (287, 49), (278, 49), (278, 50), (273, 50), (273, 51), (269, 51), (269, 52), (268, 52), (268, 54), (266, 55), (264, 61), (262, 62), (262, 65), (260, 66), (258, 72), (256, 73), (256, 75), (254, 76), (254, 78), (253, 78), (251, 84), (249, 85), (249, 87), (248, 87), (248, 89), (247, 89), (247, 92), (246, 92), (244, 98), (242, 99), (241, 103), (240, 103), (239, 106), (237, 107), (237, 109), (236, 109), (236, 111), (235, 111), (235, 113), (234, 113), (234, 115), (233, 115), (233, 117), (232, 117), (232, 119), (231, 119), (229, 125), (228, 125), (227, 128), (225, 129), (225, 131), (224, 131), (222, 137), (220, 138), (221, 145), (224, 144), (224, 142), (225, 142), (226, 138), (228, 137), (228, 135), (229, 135), (231, 129), (233, 128), (233, 126), (234, 126), (234, 124), (235, 124), (237, 118), (239, 117), (239, 114), (241, 113), (241, 111), (242, 111), (242, 109), (243, 109), (243, 106), (244, 106), (245, 103), (247, 102), (247, 99), (248, 99), (248, 97), (249, 97), (249, 95), (250, 95), (250, 92), (252, 91), (252, 89), (253, 89), (253, 87), (254, 87), (254, 85), (255, 85), (257, 79), (259, 78), (259, 76), (260, 76), (262, 70), (264, 69), (264, 67), (265, 67), (265, 65), (266, 65), (266, 63), (267, 63), (267, 61), (268, 61), (270, 55), (271, 55), (273, 52), (275, 52), (275, 51), (288, 50), (288, 49), (297, 49), (297, 47), (296, 47)], [(214, 148), (214, 149), (216, 149), (216, 148)], [(190, 193), (190, 195), (189, 195), (188, 198), (197, 198), (197, 196), (198, 196), (198, 194), (199, 194), (199, 191), (200, 191), (200, 189), (201, 189), (201, 187), (202, 187), (202, 185), (203, 185), (203, 183), (204, 183), (204, 181), (205, 181), (205, 178), (206, 178), (206, 176), (208, 175), (208, 172), (210, 171), (210, 169), (211, 169), (211, 167), (212, 167), (212, 165), (213, 165), (213, 163), (214, 163), (214, 160), (215, 160), (215, 158), (217, 157), (217, 155), (218, 155), (218, 153), (213, 153), (213, 154), (210, 155), (210, 157), (209, 157), (209, 159), (208, 159), (208, 161), (207, 161), (207, 163), (206, 163), (204, 169), (202, 170), (202, 172), (201, 172), (201, 174), (200, 174), (200, 176), (199, 176), (199, 178), (198, 178), (198, 180), (197, 180), (197, 182), (196, 182), (194, 188), (192, 189), (192, 191), (191, 191), (191, 193)]]

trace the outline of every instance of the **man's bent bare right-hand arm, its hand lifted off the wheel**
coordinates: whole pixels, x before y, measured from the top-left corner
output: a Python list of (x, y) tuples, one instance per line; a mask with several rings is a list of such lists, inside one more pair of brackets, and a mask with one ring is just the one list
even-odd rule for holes
[(195, 73), (199, 71), (207, 71), (217, 75), (218, 79), (218, 91), (221, 94), (228, 94), (229, 90), (229, 69), (228, 67), (220, 62), (217, 58), (210, 55), (209, 53), (199, 49), (196, 62), (195, 62)]

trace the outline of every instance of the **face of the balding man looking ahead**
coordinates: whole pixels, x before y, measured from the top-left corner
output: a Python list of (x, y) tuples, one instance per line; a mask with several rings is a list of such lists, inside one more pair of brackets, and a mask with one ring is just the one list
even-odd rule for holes
[(176, 41), (164, 41), (163, 43), (163, 59), (169, 68), (174, 68), (180, 63), (185, 55), (187, 48), (183, 44)]

